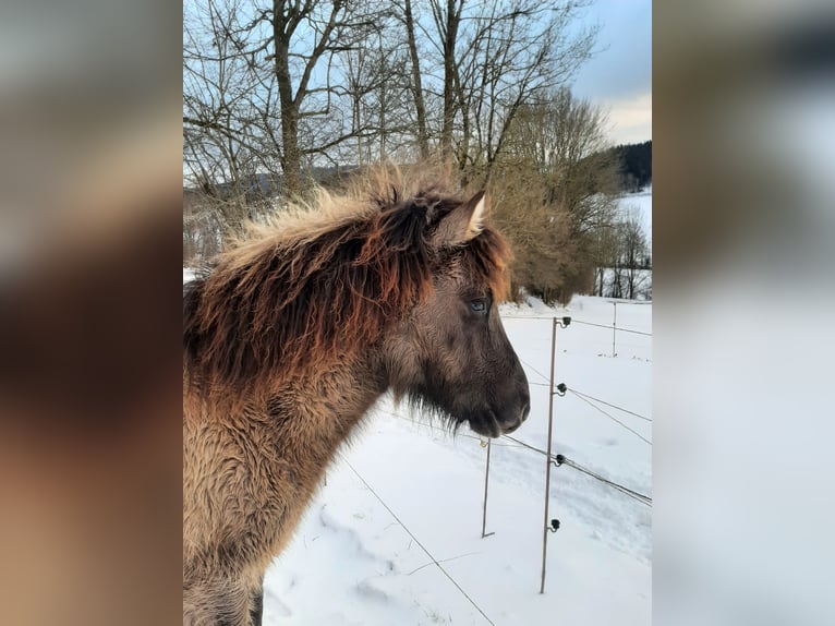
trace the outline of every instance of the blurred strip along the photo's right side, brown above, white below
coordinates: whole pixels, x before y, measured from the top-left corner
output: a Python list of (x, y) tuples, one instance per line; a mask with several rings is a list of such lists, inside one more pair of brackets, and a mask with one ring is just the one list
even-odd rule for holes
[(654, 5), (656, 624), (835, 624), (834, 13)]

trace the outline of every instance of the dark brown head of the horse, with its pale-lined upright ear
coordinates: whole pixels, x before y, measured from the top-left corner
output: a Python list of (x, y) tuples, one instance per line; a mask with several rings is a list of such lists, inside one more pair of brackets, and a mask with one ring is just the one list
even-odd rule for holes
[(528, 380), (505, 334), (498, 302), (510, 253), (485, 226), (488, 200), (413, 200), (425, 204), (432, 286), (385, 341), (397, 397), (458, 428), (497, 437), (528, 417)]

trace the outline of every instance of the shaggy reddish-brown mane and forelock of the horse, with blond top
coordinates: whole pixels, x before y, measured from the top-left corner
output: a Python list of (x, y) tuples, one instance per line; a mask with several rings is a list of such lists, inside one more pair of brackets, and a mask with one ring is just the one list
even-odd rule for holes
[(183, 366), (193, 383), (241, 390), (282, 373), (346, 359), (377, 341), (432, 292), (433, 274), (453, 256), (508, 288), (510, 251), (494, 230), (436, 250), (431, 236), (463, 198), (437, 180), (378, 171), (342, 195), (318, 193), (216, 257), (185, 286)]

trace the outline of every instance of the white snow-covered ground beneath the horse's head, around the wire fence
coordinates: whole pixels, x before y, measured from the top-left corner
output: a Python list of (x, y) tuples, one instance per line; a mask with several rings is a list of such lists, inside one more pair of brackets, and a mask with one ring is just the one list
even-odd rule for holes
[[(613, 358), (612, 329), (579, 323), (610, 326), (613, 309), (592, 297), (567, 309), (503, 308), (532, 384), (531, 416), (515, 437), (547, 446), (552, 322), (540, 316), (574, 318), (558, 329), (558, 383), (652, 418), (652, 337), (618, 333)], [(651, 332), (651, 303), (621, 301), (617, 316), (620, 327)], [(601, 408), (634, 433), (568, 393), (555, 397), (554, 453), (652, 495), (652, 446), (638, 436), (652, 441), (652, 424)], [(545, 457), (508, 440), (492, 445), (486, 530), (494, 534), (482, 539), (485, 459), (465, 426), (452, 437), (384, 398), (267, 571), (264, 623), (649, 624), (651, 508), (570, 467), (554, 468), (549, 517), (561, 527), (548, 535), (540, 594)]]

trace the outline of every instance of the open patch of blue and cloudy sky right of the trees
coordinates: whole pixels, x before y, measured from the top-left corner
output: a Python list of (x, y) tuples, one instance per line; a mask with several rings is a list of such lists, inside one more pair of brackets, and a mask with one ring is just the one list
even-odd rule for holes
[(652, 139), (652, 1), (596, 0), (585, 12), (600, 24), (596, 53), (572, 91), (608, 111), (613, 143)]

